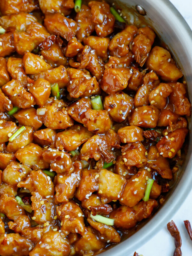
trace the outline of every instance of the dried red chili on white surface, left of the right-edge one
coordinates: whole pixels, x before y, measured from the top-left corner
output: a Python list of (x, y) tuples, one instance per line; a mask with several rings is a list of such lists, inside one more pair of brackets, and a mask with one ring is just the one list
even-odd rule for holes
[(175, 222), (172, 220), (169, 223), (167, 223), (167, 229), (169, 231), (169, 233), (171, 234), (171, 236), (175, 239), (175, 251), (173, 253), (173, 256), (181, 256), (182, 252), (181, 252), (181, 236), (180, 236), (180, 232), (179, 229), (177, 228)]

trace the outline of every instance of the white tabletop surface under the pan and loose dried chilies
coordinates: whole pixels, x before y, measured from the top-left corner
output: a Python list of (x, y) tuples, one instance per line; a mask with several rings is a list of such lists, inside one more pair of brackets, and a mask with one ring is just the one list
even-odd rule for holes
[[(156, 0), (158, 1), (158, 0)], [(178, 9), (188, 25), (192, 29), (192, 0), (170, 0)], [(181, 202), (182, 203), (182, 202)], [(190, 220), (192, 224), (192, 190), (188, 197), (185, 198), (184, 203), (180, 206), (178, 211), (170, 217), (170, 221), (174, 220), (180, 230), (182, 239), (181, 251), (183, 256), (192, 255), (192, 241), (185, 229), (183, 220)], [(162, 226), (159, 233), (157, 233), (151, 240), (140, 248), (135, 248), (136, 252), (143, 256), (172, 256), (175, 249), (174, 239), (169, 234), (166, 223)], [(134, 252), (133, 252), (134, 253)], [(133, 256), (131, 255), (127, 256)]]

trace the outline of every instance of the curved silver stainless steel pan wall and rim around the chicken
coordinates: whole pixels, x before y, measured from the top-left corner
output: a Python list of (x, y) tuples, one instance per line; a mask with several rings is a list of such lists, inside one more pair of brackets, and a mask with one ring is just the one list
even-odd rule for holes
[[(140, 5), (146, 11), (146, 21), (170, 49), (174, 59), (183, 71), (188, 84), (189, 99), (192, 102), (192, 31), (177, 9), (168, 0), (121, 0), (117, 2), (127, 17), (138, 22), (139, 14), (129, 15)], [(131, 8), (131, 9), (130, 9)], [(191, 121), (190, 121), (191, 122)], [(189, 124), (189, 127), (191, 124)], [(129, 255), (154, 236), (178, 210), (192, 187), (192, 143), (191, 136), (183, 172), (164, 205), (134, 235), (103, 252), (102, 256)]]

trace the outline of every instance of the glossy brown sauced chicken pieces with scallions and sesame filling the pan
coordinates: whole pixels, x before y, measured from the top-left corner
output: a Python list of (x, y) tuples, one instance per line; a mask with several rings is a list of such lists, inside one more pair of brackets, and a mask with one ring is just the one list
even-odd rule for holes
[(1, 0), (0, 11), (0, 255), (104, 252), (180, 171), (183, 73), (115, 4)]

